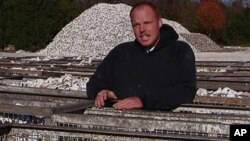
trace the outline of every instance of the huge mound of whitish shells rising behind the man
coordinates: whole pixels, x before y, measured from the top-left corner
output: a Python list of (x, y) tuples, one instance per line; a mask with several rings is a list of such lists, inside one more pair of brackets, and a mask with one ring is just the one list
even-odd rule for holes
[[(131, 6), (126, 4), (99, 3), (66, 25), (45, 49), (37, 53), (103, 59), (116, 45), (135, 39), (130, 10)], [(179, 23), (166, 19), (163, 22), (173, 26), (178, 34), (190, 33)]]

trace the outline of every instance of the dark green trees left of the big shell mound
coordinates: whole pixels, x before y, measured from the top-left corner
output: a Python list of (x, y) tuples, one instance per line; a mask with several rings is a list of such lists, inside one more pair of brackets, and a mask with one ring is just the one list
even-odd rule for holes
[(6, 0), (0, 5), (0, 46), (36, 51), (80, 14), (73, 0)]

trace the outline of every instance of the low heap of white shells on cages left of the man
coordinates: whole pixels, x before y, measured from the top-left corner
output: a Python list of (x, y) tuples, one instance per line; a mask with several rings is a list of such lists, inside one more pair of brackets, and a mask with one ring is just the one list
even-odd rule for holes
[(36, 87), (61, 90), (85, 91), (88, 77), (77, 77), (70, 74), (65, 74), (60, 78), (34, 79), (21, 82), (22, 87)]

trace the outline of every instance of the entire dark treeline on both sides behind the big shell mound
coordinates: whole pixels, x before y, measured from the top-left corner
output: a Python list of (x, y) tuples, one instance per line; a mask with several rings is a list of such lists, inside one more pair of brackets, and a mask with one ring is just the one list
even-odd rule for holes
[[(36, 51), (84, 10), (100, 3), (126, 3), (134, 0), (2, 0), (0, 1), (0, 49), (8, 45)], [(143, 1), (143, 0), (140, 0)], [(191, 32), (208, 35), (221, 45), (250, 46), (250, 8), (241, 0), (226, 7), (218, 0), (149, 0), (162, 17), (181, 23)]]

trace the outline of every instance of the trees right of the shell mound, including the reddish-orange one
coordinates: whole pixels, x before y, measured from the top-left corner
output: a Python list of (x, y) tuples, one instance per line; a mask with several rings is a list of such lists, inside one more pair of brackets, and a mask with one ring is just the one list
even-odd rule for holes
[(242, 0), (225, 6), (218, 0), (166, 0), (163, 17), (181, 23), (191, 32), (203, 33), (220, 45), (250, 46), (250, 7)]

